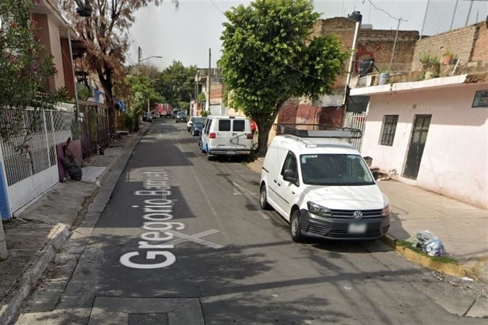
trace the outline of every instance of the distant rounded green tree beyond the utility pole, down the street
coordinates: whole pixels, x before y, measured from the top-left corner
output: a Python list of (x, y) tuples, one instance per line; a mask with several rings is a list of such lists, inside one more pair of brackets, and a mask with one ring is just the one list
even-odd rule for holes
[(166, 68), (156, 83), (156, 89), (165, 96), (173, 107), (179, 102), (190, 102), (195, 93), (195, 75), (197, 67), (185, 67), (181, 61), (173, 61)]

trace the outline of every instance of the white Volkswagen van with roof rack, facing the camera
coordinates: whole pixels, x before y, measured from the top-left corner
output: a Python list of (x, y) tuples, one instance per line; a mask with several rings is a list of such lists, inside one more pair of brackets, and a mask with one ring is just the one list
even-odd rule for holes
[(375, 182), (377, 175), (348, 143), (351, 132), (296, 131), (275, 137), (268, 148), (261, 208), (271, 206), (289, 221), (294, 241), (304, 236), (356, 240), (386, 235), (388, 198)]

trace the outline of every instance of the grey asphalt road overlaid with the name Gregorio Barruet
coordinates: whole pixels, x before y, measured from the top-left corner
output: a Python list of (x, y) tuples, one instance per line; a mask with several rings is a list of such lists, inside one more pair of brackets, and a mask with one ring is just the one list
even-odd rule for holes
[[(155, 120), (82, 254), (65, 256), (17, 323), (486, 323), (441, 308), (446, 293), (419, 289), (429, 273), (379, 241), (293, 243), (287, 222), (258, 208), (259, 175), (207, 161), (185, 126)], [(158, 182), (169, 192), (148, 188)], [(148, 218), (167, 218), (146, 228), (171, 226), (172, 238), (152, 241), (163, 235), (143, 229), (158, 222)]]

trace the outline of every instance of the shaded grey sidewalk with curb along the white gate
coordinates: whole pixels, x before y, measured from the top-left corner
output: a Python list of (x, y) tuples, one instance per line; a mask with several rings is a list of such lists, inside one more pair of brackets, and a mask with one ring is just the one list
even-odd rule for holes
[(132, 152), (148, 126), (144, 123), (139, 133), (111, 142), (103, 156), (85, 161), (82, 181), (56, 184), (14, 213), (13, 219), (4, 221), (9, 256), (0, 261), (0, 323), (8, 323), (15, 316), (56, 252), (83, 222), (99, 193), (104, 198), (96, 200), (96, 205), (104, 208), (111, 193), (104, 190), (104, 184), (114, 183), (115, 177), (110, 173), (113, 166), (123, 153)]

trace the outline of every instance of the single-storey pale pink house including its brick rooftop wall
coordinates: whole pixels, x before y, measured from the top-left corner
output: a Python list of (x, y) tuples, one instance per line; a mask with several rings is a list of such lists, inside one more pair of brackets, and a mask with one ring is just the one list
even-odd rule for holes
[(369, 96), (361, 154), (393, 179), (488, 209), (487, 42), (484, 22), (419, 40), (415, 56), (459, 61), (426, 79), (414, 57), (389, 84), (352, 89)]

